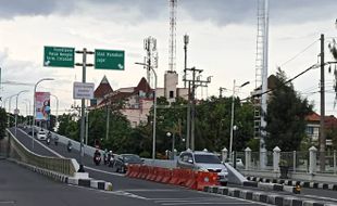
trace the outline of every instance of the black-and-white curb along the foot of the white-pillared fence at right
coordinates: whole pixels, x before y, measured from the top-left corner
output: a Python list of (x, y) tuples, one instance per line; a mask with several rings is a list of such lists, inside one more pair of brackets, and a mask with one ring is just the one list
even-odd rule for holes
[(285, 179), (270, 179), (270, 178), (259, 178), (259, 177), (247, 177), (247, 180), (250, 180), (253, 182), (272, 182), (272, 183), (279, 183), (279, 184), (292, 185), (292, 186), (300, 185), (302, 188), (309, 188), (309, 189), (323, 189), (323, 190), (337, 191), (337, 184), (328, 184), (328, 183), (296, 181), (296, 180), (285, 180)]

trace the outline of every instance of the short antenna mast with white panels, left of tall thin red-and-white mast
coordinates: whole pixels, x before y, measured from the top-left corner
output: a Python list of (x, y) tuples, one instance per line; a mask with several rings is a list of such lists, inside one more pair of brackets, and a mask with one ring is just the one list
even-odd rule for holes
[[(157, 39), (153, 37), (148, 37), (143, 39), (143, 49), (146, 51), (145, 64), (148, 67), (158, 68), (158, 52), (157, 52)], [(150, 87), (154, 87), (152, 82), (152, 76), (150, 73), (150, 68), (147, 69), (147, 81)]]

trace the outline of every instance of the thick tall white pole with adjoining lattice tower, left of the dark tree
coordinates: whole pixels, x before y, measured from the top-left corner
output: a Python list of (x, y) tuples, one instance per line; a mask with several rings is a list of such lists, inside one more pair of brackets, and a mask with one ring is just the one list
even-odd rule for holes
[[(255, 93), (254, 98), (254, 137), (260, 139), (260, 166), (265, 166), (264, 130), (266, 121), (267, 94), (267, 54), (269, 54), (269, 0), (258, 0), (258, 35), (255, 59)], [(259, 95), (260, 93), (260, 95)], [(262, 93), (262, 95), (261, 95)]]

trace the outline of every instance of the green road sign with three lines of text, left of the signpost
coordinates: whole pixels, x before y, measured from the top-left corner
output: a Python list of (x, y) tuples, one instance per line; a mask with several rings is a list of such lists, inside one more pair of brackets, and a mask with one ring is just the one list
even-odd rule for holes
[(45, 46), (43, 66), (74, 67), (75, 49)]

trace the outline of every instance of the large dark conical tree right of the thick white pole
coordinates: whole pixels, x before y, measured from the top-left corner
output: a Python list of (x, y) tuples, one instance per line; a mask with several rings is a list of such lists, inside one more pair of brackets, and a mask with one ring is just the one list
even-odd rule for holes
[[(275, 77), (275, 76), (274, 76)], [(270, 77), (269, 85), (273, 85), (272, 93), (269, 93), (269, 107), (265, 117), (266, 149), (275, 146), (283, 151), (296, 151), (305, 137), (307, 123), (304, 117), (312, 112), (312, 105), (307, 99), (294, 90), (291, 82), (286, 82), (285, 73), (278, 68), (275, 78)]]

